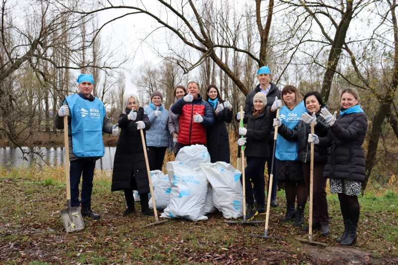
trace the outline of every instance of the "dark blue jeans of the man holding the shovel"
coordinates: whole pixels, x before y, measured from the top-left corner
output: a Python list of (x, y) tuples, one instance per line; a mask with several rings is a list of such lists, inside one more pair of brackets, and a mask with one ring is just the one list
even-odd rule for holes
[[(93, 190), (93, 177), (96, 161), (94, 159), (78, 159), (71, 161), (70, 183), (71, 183), (71, 205), (91, 208), (91, 193)], [(79, 201), (80, 177), (82, 181), (82, 200)]]

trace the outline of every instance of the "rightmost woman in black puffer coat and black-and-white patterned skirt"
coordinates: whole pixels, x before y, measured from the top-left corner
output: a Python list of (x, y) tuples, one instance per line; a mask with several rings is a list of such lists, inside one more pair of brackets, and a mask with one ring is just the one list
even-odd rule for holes
[(330, 147), (323, 177), (330, 178), (330, 192), (337, 193), (343, 215), (344, 232), (337, 239), (340, 245), (352, 245), (357, 239), (359, 220), (358, 194), (365, 180), (365, 153), (362, 144), (368, 128), (368, 118), (359, 105), (358, 91), (344, 89), (340, 95), (340, 115), (321, 109), (330, 129), (326, 137), (308, 135), (308, 142)]

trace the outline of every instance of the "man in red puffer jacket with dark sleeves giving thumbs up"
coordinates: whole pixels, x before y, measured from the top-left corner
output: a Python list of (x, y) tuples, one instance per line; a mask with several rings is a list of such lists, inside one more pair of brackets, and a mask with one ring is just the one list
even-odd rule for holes
[(206, 145), (206, 127), (214, 123), (213, 111), (207, 101), (199, 94), (199, 84), (190, 81), (188, 94), (174, 103), (171, 111), (180, 115), (177, 153), (184, 146)]

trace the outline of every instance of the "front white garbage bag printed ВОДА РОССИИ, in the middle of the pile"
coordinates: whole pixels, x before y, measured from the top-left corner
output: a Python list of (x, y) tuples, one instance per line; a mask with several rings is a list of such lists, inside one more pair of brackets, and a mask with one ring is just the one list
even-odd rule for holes
[(166, 169), (171, 182), (171, 193), (169, 205), (161, 217), (207, 220), (203, 215), (203, 206), (208, 181), (200, 168), (172, 161), (167, 162)]

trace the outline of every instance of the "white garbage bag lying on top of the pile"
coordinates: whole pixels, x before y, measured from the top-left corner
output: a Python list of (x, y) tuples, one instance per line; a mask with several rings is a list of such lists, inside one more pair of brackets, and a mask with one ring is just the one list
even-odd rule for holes
[(190, 145), (180, 149), (176, 161), (180, 161), (191, 168), (197, 168), (200, 163), (210, 162), (210, 155), (204, 145)]

